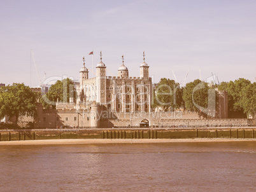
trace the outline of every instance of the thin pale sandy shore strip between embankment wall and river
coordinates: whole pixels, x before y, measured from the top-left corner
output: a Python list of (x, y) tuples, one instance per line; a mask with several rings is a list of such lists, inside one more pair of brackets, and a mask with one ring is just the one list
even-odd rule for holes
[(196, 138), (196, 139), (45, 139), (27, 141), (1, 141), (0, 146), (30, 146), (30, 145), (69, 145), (69, 144), (148, 144), (173, 142), (246, 142), (256, 139), (224, 139), (224, 138)]

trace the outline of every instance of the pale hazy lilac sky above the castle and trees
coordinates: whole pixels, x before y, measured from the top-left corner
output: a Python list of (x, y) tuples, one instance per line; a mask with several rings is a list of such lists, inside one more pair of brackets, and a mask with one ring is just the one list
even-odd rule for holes
[[(150, 65), (160, 78), (186, 83), (256, 77), (256, 1), (0, 1), (0, 83), (31, 85), (31, 49), (39, 78), (79, 79), (85, 56), (92, 70), (103, 62), (107, 76), (122, 64), (129, 76)], [(94, 69), (95, 71), (95, 69)], [(91, 76), (92, 72), (90, 72)], [(38, 86), (32, 62), (32, 86)]]

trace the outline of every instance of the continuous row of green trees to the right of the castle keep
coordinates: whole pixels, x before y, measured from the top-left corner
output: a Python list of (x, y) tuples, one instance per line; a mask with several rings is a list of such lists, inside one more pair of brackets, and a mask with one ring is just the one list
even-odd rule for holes
[(231, 116), (255, 116), (256, 83), (244, 78), (211, 86), (199, 79), (180, 86), (172, 79), (162, 78), (153, 92), (152, 107), (159, 107), (162, 111), (183, 108), (196, 111), (199, 116), (208, 117), (210, 112), (203, 109), (214, 105), (218, 97), (217, 90), (227, 92), (228, 111)]

